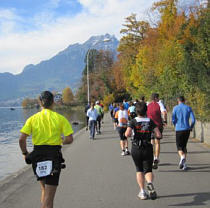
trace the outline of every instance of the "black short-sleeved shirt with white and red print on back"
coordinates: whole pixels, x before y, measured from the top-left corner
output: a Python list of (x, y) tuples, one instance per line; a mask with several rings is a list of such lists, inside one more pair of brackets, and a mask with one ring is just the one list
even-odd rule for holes
[(149, 142), (151, 133), (157, 126), (150, 118), (136, 117), (129, 122), (128, 127), (134, 130), (133, 141), (144, 140)]

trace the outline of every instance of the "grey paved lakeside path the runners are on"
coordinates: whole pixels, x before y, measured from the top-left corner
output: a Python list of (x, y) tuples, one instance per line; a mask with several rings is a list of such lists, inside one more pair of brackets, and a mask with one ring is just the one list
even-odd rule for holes
[[(164, 130), (161, 164), (155, 174), (158, 199), (137, 198), (135, 167), (121, 156), (119, 138), (109, 115), (102, 134), (90, 141), (84, 129), (64, 149), (67, 168), (62, 172), (55, 208), (207, 208), (210, 207), (210, 149), (190, 140), (190, 169), (178, 169), (174, 132)], [(0, 208), (39, 208), (39, 184), (32, 170), (0, 185)]]

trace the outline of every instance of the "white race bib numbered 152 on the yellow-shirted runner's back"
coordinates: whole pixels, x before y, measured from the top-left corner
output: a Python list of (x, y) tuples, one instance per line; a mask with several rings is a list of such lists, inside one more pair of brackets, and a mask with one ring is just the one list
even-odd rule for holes
[(52, 172), (52, 161), (47, 160), (38, 162), (36, 166), (36, 174), (38, 177), (45, 177), (50, 175)]

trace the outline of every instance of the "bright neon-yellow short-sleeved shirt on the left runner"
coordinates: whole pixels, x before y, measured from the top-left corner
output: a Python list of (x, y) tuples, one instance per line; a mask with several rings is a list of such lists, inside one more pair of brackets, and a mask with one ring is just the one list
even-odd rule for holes
[(34, 145), (61, 145), (61, 135), (73, 134), (69, 121), (59, 113), (49, 109), (43, 109), (27, 119), (21, 133), (32, 134)]

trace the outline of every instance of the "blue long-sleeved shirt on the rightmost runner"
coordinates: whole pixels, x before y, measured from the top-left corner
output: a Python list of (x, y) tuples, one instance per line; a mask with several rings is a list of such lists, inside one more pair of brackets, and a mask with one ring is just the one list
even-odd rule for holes
[[(191, 125), (189, 120), (191, 118)], [(176, 105), (172, 113), (172, 122), (175, 126), (176, 131), (185, 131), (190, 130), (195, 125), (195, 116), (194, 113), (188, 105), (180, 103)]]

